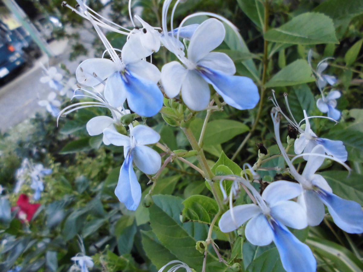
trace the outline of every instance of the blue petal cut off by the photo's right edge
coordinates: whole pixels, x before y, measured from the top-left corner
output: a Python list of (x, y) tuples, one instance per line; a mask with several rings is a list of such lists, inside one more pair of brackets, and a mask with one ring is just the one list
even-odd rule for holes
[(321, 188), (317, 193), (339, 228), (348, 233), (363, 232), (363, 211), (359, 203), (338, 197)]

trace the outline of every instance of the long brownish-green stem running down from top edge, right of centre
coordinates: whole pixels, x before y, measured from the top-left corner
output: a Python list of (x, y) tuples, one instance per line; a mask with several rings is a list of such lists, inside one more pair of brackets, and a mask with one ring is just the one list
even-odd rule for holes
[[(265, 23), (264, 23), (262, 31), (263, 31), (263, 33), (266, 33), (266, 31), (268, 29), (268, 22), (269, 22), (269, 1), (268, 0), (265, 1), (264, 6), (265, 6), (265, 9), (264, 9)], [(268, 66), (268, 62), (269, 62), (268, 41), (267, 40), (264, 40), (264, 57), (262, 59), (262, 62), (263, 62), (263, 69), (262, 69), (262, 81), (261, 81), (261, 95), (260, 95), (260, 103), (258, 104), (258, 111), (257, 111), (256, 119), (254, 120), (251, 130), (246, 135), (245, 139), (242, 141), (240, 146), (237, 148), (236, 152), (233, 154), (232, 161), (237, 157), (238, 153), (240, 153), (240, 151), (242, 150), (244, 145), (247, 143), (248, 139), (252, 136), (252, 133), (254, 132), (254, 130), (257, 127), (258, 121), (260, 121), (262, 109), (264, 106), (264, 100), (265, 100), (265, 92), (266, 92), (265, 84), (266, 84), (266, 78), (267, 78), (267, 66)]]

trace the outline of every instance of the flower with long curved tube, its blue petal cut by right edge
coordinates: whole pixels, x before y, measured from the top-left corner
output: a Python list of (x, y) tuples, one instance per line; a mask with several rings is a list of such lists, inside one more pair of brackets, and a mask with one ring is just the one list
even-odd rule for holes
[[(316, 145), (311, 149), (306, 166), (300, 175), (294, 168), (282, 146), (279, 131), (280, 119), (278, 118), (276, 109), (275, 111), (274, 114), (272, 113), (272, 119), (274, 122), (276, 141), (282, 156), (289, 166), (290, 173), (303, 188), (302, 194), (298, 197), (298, 202), (306, 209), (308, 224), (310, 226), (317, 226), (321, 223), (325, 216), (325, 204), (333, 221), (338, 227), (348, 233), (362, 233), (363, 210), (359, 203), (340, 198), (333, 194), (333, 191), (325, 178), (319, 174), (315, 174), (322, 165), (324, 158), (328, 157), (325, 155), (325, 147), (323, 145)], [(343, 164), (337, 158), (328, 158)]]

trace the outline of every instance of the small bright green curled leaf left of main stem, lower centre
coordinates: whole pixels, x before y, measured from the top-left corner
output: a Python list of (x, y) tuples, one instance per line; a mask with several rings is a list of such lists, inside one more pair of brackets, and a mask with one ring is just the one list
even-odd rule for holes
[(204, 195), (192, 195), (183, 201), (183, 216), (191, 221), (209, 224), (218, 213), (217, 202)]

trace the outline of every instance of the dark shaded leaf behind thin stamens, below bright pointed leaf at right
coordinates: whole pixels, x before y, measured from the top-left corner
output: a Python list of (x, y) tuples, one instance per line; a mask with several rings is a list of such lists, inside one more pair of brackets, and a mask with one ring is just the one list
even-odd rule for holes
[(287, 96), (291, 112), (297, 122), (304, 118), (303, 110), (309, 114), (315, 108), (314, 95), (309, 86), (302, 84), (294, 87)]

